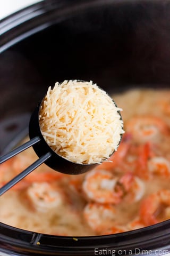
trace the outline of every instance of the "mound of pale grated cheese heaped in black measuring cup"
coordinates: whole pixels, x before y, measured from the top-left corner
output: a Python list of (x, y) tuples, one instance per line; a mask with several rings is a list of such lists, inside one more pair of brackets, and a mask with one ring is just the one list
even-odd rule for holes
[(48, 145), (79, 164), (101, 163), (117, 150), (123, 131), (121, 108), (90, 82), (64, 81), (48, 88), (39, 124)]

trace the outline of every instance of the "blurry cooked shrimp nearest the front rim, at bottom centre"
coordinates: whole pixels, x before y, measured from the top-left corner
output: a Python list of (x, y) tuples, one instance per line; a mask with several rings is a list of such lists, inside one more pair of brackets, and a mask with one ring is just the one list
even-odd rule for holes
[(112, 204), (88, 203), (84, 207), (83, 217), (89, 227), (100, 234), (115, 222), (116, 210)]

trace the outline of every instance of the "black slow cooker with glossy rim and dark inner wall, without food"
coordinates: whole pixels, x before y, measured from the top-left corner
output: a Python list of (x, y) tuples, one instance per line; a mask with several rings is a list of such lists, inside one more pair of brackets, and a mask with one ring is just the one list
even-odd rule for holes
[[(168, 0), (46, 0), (0, 28), (1, 154), (28, 133), (30, 113), (56, 81), (92, 80), (108, 92), (169, 86)], [(169, 220), (77, 239), (0, 223), (0, 255), (162, 255), (169, 233)]]

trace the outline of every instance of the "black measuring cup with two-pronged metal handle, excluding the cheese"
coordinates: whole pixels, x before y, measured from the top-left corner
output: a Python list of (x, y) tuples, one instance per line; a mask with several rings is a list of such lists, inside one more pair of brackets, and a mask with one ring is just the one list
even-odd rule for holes
[[(72, 174), (72, 175), (85, 173), (87, 171), (94, 169), (98, 165), (98, 163), (97, 164), (96, 163), (94, 164), (73, 163), (68, 159), (64, 158), (63, 156), (58, 155), (52, 148), (50, 148), (50, 146), (45, 141), (43, 134), (41, 133), (41, 129), (39, 125), (39, 112), (40, 112), (40, 107), (43, 101), (44, 101), (44, 98), (35, 108), (30, 118), (30, 122), (29, 122), (30, 141), (24, 143), (18, 148), (15, 148), (10, 153), (0, 157), (0, 164), (7, 161), (11, 157), (21, 153), (23, 150), (31, 146), (33, 147), (33, 149), (35, 150), (39, 158), (36, 162), (32, 163), (29, 167), (27, 167), (27, 169), (22, 171), (20, 174), (16, 175), (16, 177), (14, 177), (11, 181), (7, 182), (3, 187), (1, 187), (0, 196), (43, 163), (45, 163), (47, 166), (49, 166), (50, 168), (58, 172), (62, 172), (65, 174)], [(118, 111), (118, 114), (122, 119), (120, 111)], [(121, 138), (122, 138), (122, 135), (121, 135)], [(120, 142), (121, 142), (121, 139), (120, 139)], [(110, 156), (112, 156), (113, 153)]]

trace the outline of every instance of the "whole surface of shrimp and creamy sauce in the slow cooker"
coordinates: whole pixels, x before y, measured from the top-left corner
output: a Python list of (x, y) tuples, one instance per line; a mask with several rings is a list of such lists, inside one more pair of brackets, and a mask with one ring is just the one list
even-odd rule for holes
[[(41, 165), (0, 198), (0, 221), (52, 235), (120, 233), (170, 217), (170, 91), (113, 95), (125, 134), (111, 161), (81, 175)], [(0, 166), (0, 186), (37, 159), (32, 149)]]

